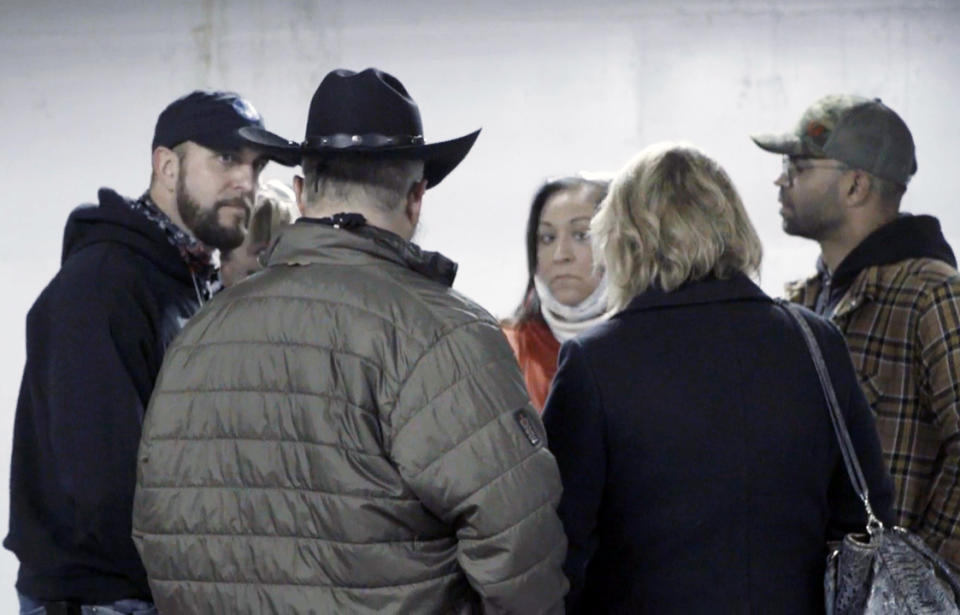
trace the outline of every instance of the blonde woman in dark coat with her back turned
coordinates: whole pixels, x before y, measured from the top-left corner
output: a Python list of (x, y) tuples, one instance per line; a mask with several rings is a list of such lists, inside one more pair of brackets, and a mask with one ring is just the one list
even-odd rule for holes
[[(750, 280), (760, 242), (730, 178), (692, 146), (652, 146), (591, 233), (623, 311), (563, 346), (544, 413), (568, 612), (822, 612), (824, 545), (866, 519), (801, 333)], [(808, 321), (889, 521), (843, 339)]]

